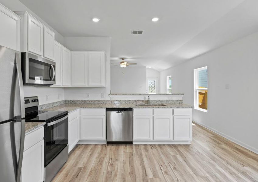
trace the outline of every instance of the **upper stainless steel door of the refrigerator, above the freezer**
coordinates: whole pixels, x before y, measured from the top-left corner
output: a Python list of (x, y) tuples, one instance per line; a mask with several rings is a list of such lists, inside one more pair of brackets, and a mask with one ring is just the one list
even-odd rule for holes
[[(22, 115), (21, 105), (24, 104), (24, 97), (20, 97), (19, 90), (23, 87), (19, 85), (16, 66), (20, 67), (20, 52), (0, 46), (0, 123)], [(23, 92), (21, 95), (23, 96)]]

